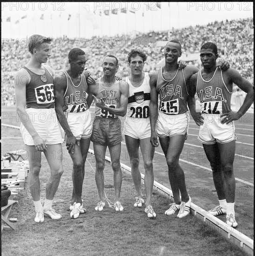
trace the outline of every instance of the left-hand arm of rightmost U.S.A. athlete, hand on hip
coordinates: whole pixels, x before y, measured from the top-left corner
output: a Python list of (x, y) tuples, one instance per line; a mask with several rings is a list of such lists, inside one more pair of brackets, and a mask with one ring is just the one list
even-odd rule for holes
[(190, 115), (194, 119), (195, 123), (198, 126), (201, 126), (204, 123), (203, 121), (204, 118), (202, 117), (200, 112), (196, 113), (196, 101), (195, 101), (197, 75), (198, 73), (195, 73), (189, 79), (189, 82), (188, 82), (189, 92), (188, 92), (187, 103), (188, 103)]

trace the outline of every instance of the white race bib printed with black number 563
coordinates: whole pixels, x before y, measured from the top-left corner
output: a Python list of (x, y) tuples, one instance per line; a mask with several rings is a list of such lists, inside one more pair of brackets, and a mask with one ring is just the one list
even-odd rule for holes
[(55, 97), (53, 84), (45, 84), (34, 88), (34, 93), (38, 104), (54, 102)]

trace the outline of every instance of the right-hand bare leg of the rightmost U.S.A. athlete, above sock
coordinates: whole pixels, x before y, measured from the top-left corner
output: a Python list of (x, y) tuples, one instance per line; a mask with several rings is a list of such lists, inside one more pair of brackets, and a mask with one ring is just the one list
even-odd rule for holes
[(228, 143), (218, 143), (221, 155), (221, 170), (226, 184), (225, 198), (227, 203), (235, 202), (235, 176), (233, 172), (233, 163), (235, 159), (235, 141)]

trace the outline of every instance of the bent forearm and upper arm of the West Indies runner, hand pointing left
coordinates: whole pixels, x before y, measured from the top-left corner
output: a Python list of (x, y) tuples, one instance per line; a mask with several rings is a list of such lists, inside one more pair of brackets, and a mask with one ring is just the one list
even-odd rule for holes
[(127, 113), (127, 100), (128, 100), (128, 93), (129, 93), (128, 83), (121, 81), (120, 92), (121, 92), (120, 108), (109, 108), (106, 106), (105, 102), (102, 99), (99, 100), (93, 95), (96, 106), (101, 109), (107, 110), (110, 114), (125, 116)]

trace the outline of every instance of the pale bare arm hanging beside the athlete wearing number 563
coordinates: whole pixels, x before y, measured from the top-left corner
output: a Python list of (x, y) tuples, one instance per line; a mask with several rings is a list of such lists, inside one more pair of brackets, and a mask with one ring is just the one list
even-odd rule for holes
[[(26, 112), (26, 86), (30, 82), (31, 78), (26, 69), (21, 68), (16, 74), (15, 82), (15, 99), (16, 99), (16, 111), (20, 117), (20, 121), (32, 136), (34, 146), (39, 151), (46, 151), (47, 145), (38, 135), (34, 126), (29, 119)], [(22, 79), (21, 79), (22, 78)], [(27, 79), (25, 79), (27, 78)]]

